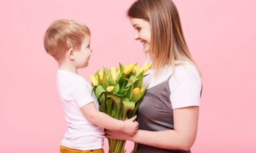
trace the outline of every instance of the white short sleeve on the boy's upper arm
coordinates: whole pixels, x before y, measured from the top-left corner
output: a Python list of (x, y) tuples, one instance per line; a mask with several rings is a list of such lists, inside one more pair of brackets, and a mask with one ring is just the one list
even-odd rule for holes
[(72, 97), (79, 108), (93, 102), (91, 87), (85, 82), (85, 80), (77, 80), (76, 83), (74, 83), (74, 86), (75, 90), (72, 93)]

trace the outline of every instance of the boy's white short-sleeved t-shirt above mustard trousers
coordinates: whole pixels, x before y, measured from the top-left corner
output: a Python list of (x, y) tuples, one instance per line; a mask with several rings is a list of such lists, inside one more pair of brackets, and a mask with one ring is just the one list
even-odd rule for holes
[(68, 131), (60, 145), (82, 151), (102, 148), (104, 128), (90, 123), (80, 110), (80, 107), (93, 101), (99, 107), (96, 97), (91, 95), (90, 84), (76, 73), (58, 70), (57, 89), (68, 123)]

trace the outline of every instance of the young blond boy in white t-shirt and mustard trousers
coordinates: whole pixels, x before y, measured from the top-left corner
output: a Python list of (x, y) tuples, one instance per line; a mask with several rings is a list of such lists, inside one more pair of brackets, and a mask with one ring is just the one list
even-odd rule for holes
[(77, 74), (77, 69), (88, 66), (92, 52), (87, 26), (66, 19), (54, 21), (44, 35), (44, 49), (59, 63), (57, 88), (68, 123), (61, 153), (104, 152), (104, 128), (130, 135), (137, 132), (136, 117), (121, 121), (99, 112), (90, 84)]

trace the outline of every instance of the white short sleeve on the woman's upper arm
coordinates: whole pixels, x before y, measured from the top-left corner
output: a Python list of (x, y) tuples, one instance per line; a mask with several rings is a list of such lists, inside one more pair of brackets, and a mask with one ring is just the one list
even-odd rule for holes
[(176, 68), (169, 80), (172, 109), (199, 106), (201, 97), (201, 77), (195, 66), (185, 64)]

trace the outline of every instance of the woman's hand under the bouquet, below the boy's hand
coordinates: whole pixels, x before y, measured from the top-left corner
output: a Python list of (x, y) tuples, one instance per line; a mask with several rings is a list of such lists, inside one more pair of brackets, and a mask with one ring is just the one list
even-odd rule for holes
[(119, 140), (130, 140), (132, 141), (132, 135), (126, 134), (123, 131), (110, 131), (105, 129), (107, 138), (119, 139)]

